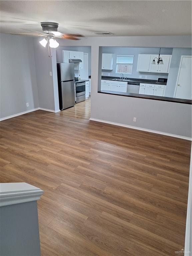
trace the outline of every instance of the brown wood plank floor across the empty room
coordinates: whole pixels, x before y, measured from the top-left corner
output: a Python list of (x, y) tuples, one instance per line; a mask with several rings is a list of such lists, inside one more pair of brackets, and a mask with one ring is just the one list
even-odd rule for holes
[(184, 248), (190, 141), (89, 121), (90, 100), (0, 123), (0, 180), (44, 190), (42, 256)]

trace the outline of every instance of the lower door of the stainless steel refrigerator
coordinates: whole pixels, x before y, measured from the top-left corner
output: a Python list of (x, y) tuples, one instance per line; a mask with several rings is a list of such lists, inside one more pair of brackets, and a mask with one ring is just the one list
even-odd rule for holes
[(62, 90), (62, 109), (75, 105), (75, 82), (61, 82)]

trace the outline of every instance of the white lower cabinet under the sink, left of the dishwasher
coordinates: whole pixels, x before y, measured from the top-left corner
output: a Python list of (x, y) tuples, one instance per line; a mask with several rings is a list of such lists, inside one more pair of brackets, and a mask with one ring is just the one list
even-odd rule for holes
[(127, 82), (101, 80), (101, 90), (127, 92)]

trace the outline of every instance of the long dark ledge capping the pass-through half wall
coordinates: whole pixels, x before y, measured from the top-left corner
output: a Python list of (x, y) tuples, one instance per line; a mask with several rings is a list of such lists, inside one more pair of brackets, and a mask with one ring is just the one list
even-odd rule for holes
[(162, 97), (162, 96), (155, 96), (155, 95), (127, 93), (127, 92), (114, 92), (114, 91), (106, 91), (106, 90), (98, 91), (98, 93), (113, 94), (113, 95), (134, 97), (134, 98), (142, 98), (142, 99), (149, 99), (149, 100), (169, 101), (169, 102), (183, 103), (183, 104), (192, 105), (192, 100), (169, 98), (169, 97)]

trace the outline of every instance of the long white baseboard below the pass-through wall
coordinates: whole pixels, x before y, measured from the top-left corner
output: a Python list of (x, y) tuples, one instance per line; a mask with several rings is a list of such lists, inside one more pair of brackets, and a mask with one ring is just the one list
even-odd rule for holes
[(131, 126), (131, 125), (127, 125), (127, 124), (114, 123), (114, 122), (100, 120), (100, 119), (95, 119), (95, 118), (89, 118), (89, 120), (96, 121), (96, 122), (101, 122), (101, 123), (106, 123), (106, 124), (123, 126), (123, 127), (131, 128), (131, 129), (135, 129), (135, 130), (145, 131), (145, 132), (158, 133), (158, 134), (161, 134), (161, 135), (171, 136), (171, 137), (180, 138), (180, 139), (184, 139), (184, 140), (192, 140), (190, 137), (180, 136), (180, 135), (177, 135), (177, 134), (171, 134), (171, 133), (166, 133), (166, 132), (149, 130), (149, 129), (145, 129), (145, 128), (141, 128), (141, 127), (136, 127), (136, 126)]

